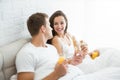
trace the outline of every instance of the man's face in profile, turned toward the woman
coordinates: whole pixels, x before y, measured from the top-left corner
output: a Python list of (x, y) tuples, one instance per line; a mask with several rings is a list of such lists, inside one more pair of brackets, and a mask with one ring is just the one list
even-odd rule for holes
[(53, 37), (52, 35), (52, 28), (50, 27), (50, 23), (48, 18), (46, 18), (46, 33), (45, 36), (47, 39), (51, 39)]

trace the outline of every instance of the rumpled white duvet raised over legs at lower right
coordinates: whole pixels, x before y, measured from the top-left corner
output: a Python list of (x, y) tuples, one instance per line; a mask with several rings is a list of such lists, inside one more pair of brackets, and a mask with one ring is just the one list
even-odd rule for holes
[(98, 58), (91, 60), (86, 57), (83, 63), (78, 65), (85, 73), (71, 80), (120, 80), (120, 51), (112, 48), (99, 50), (101, 55)]

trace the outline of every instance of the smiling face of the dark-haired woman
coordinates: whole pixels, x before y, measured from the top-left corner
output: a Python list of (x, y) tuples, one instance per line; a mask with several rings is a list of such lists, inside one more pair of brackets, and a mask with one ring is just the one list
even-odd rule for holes
[(58, 35), (63, 35), (66, 28), (65, 18), (63, 16), (55, 17), (53, 28)]

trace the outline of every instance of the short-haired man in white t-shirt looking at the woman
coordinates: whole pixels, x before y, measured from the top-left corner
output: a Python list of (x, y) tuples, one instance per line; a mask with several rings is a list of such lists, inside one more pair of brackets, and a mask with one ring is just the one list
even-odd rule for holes
[[(52, 38), (48, 16), (45, 13), (35, 13), (29, 17), (27, 26), (32, 39), (23, 46), (16, 57), (17, 80), (60, 79), (69, 70), (66, 61), (62, 64), (57, 63), (59, 55), (56, 48), (46, 44), (47, 40)], [(71, 71), (75, 70), (78, 71), (78, 69), (71, 69)], [(81, 72), (78, 71), (79, 73)]]

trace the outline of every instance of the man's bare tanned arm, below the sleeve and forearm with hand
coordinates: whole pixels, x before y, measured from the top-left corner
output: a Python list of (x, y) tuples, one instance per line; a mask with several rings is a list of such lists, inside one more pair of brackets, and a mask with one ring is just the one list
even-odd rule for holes
[[(67, 64), (56, 64), (54, 71), (42, 80), (58, 80), (67, 73)], [(34, 80), (34, 72), (20, 72), (17, 75), (17, 80)]]

